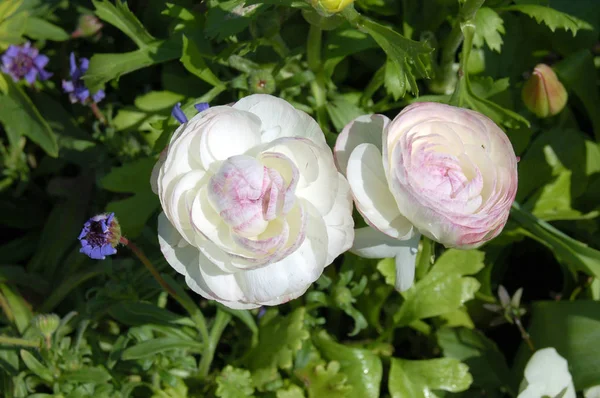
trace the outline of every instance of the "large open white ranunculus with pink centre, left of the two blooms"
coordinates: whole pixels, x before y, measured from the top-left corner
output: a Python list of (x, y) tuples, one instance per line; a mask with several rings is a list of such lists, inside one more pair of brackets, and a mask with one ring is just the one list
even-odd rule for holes
[(348, 182), (323, 132), (270, 95), (181, 125), (152, 179), (165, 258), (191, 289), (230, 308), (302, 295), (352, 245)]

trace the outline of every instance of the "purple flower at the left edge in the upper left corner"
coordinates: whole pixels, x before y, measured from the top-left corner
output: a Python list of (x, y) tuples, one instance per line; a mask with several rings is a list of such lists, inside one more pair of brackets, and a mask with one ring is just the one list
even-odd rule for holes
[(40, 80), (49, 79), (52, 73), (45, 71), (48, 57), (39, 54), (39, 50), (27, 42), (22, 46), (11, 45), (2, 55), (2, 72), (8, 73), (17, 82), (23, 78), (33, 84), (39, 75)]

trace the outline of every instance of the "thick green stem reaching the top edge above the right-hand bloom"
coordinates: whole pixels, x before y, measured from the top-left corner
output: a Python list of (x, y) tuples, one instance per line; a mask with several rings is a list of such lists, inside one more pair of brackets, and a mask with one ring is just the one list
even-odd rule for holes
[(452, 27), (450, 35), (444, 41), (442, 46), (442, 55), (440, 66), (436, 79), (432, 83), (432, 90), (439, 93), (449, 94), (453, 89), (453, 81), (455, 72), (453, 70), (454, 60), (456, 59), (456, 51), (463, 41), (463, 33), (461, 25), (472, 20), (481, 8), (485, 0), (467, 0), (458, 12), (458, 18)]

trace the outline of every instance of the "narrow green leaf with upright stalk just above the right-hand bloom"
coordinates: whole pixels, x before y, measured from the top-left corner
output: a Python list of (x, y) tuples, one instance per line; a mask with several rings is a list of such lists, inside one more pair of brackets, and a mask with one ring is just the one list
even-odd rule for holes
[[(461, 68), (466, 71), (469, 56), (473, 46), (473, 36), (475, 28), (472, 24), (461, 25), (465, 41), (463, 43), (463, 52), (461, 59)], [(452, 96), (451, 102), (454, 105), (469, 107), (473, 110), (483, 113), (497, 124), (505, 125), (509, 128), (519, 128), (523, 126), (529, 127), (529, 121), (523, 116), (509, 109), (503, 108), (500, 105), (486, 98), (478, 96), (471, 86), (469, 74), (464, 73), (459, 79), (456, 91)]]

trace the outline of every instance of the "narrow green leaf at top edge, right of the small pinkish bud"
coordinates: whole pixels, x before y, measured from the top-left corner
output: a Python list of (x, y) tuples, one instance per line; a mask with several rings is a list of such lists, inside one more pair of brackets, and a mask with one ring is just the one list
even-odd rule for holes
[(96, 7), (96, 15), (100, 19), (125, 33), (138, 47), (146, 47), (156, 40), (129, 10), (127, 3), (123, 3), (121, 0), (116, 0), (115, 4), (108, 0), (94, 0), (92, 3)]

